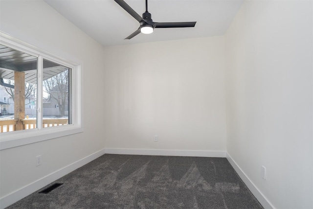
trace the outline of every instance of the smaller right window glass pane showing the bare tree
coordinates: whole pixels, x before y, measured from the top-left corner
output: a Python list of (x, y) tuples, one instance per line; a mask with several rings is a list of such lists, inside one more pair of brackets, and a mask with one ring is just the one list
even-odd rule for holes
[(71, 124), (71, 69), (44, 59), (43, 127)]

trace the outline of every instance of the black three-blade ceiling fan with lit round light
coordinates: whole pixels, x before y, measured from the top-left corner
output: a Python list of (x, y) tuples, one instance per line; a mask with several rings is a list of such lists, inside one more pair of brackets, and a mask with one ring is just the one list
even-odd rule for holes
[(134, 17), (139, 23), (139, 28), (126, 37), (125, 39), (134, 38), (140, 32), (145, 34), (150, 34), (153, 32), (154, 28), (170, 28), (170, 27), (194, 27), (197, 22), (176, 22), (176, 23), (156, 23), (151, 19), (151, 14), (148, 12), (148, 0), (146, 0), (146, 11), (140, 17), (134, 9), (132, 9), (124, 0), (114, 0), (118, 3), (123, 9), (126, 10), (130, 15)]

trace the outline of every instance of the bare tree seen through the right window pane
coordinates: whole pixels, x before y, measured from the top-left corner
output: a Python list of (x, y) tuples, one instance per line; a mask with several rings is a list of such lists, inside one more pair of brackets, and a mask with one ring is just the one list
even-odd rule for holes
[(68, 70), (44, 80), (44, 92), (48, 95), (46, 99), (56, 101), (61, 116), (64, 116), (68, 104)]

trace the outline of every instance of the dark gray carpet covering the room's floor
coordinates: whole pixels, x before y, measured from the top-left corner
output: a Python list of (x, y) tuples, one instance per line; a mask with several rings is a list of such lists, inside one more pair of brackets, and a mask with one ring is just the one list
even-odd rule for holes
[(54, 183), (7, 209), (262, 209), (226, 158), (105, 154)]

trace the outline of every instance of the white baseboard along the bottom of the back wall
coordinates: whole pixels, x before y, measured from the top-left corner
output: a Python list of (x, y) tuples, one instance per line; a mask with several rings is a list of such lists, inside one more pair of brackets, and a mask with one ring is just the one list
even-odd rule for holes
[(214, 157), (225, 158), (226, 151), (205, 150), (158, 150), (158, 149), (115, 149), (106, 148), (106, 154), (120, 155), (160, 155), (160, 156), (188, 156), (188, 157)]

